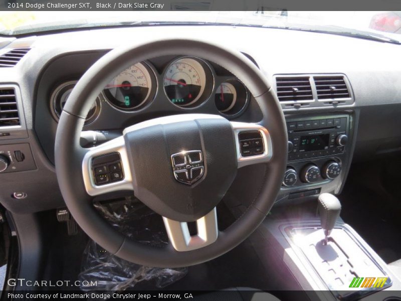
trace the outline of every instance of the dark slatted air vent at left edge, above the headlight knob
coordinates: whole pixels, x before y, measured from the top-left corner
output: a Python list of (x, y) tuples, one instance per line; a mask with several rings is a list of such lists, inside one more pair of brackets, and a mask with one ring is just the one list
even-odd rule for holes
[(0, 89), (0, 128), (12, 125), (20, 125), (15, 90), (2, 88)]

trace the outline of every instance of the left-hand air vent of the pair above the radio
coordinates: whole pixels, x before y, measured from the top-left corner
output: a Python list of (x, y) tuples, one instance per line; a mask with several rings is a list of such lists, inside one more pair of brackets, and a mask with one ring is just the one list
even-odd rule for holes
[(309, 77), (276, 77), (277, 97), (280, 102), (312, 102)]

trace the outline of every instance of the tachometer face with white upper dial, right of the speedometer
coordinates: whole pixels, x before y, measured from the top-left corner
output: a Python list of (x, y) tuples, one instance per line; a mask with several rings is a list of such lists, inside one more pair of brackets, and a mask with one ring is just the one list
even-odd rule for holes
[(197, 60), (181, 58), (168, 66), (163, 81), (168, 99), (176, 105), (188, 106), (203, 95), (206, 73)]

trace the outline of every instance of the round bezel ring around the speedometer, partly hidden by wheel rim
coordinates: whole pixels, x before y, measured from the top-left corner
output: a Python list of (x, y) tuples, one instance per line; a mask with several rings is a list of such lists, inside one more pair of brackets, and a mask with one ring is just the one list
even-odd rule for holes
[[(108, 96), (107, 93), (105, 92), (106, 89), (104, 89), (104, 88), (102, 89), (101, 94), (103, 95), (104, 99), (107, 101), (108, 104), (110, 104), (110, 106), (112, 106), (114, 109), (116, 109), (116, 110), (118, 110), (118, 111), (125, 112), (125, 113), (127, 113), (127, 112), (137, 112), (137, 111), (140, 111), (140, 110), (146, 108), (146, 107), (154, 100), (154, 98), (155, 98), (155, 96), (156, 96), (156, 94), (157, 94), (157, 86), (158, 86), (158, 85), (157, 85), (157, 76), (156, 76), (156, 72), (155, 72), (154, 68), (152, 68), (151, 64), (149, 64), (148, 62), (145, 62), (145, 61), (135, 63), (135, 64), (133, 64), (133, 65), (130, 65), (129, 67), (135, 66), (135, 65), (137, 65), (137, 64), (140, 64), (140, 65), (142, 65), (142, 66), (144, 67), (144, 69), (148, 72), (149, 78), (150, 78), (150, 89), (149, 89), (149, 92), (148, 92), (148, 94), (146, 95), (146, 98), (145, 98), (140, 104), (138, 104), (137, 106), (132, 107), (132, 108), (122, 108), (122, 107), (119, 107), (119, 106), (117, 106), (116, 104), (114, 104), (114, 103), (109, 99), (109, 96)], [(127, 68), (128, 68), (128, 67), (127, 67)], [(122, 70), (117, 76), (119, 76), (119, 75), (120, 75), (122, 72), (124, 72), (127, 68), (125, 68), (124, 70)], [(113, 78), (110, 80), (110, 82), (113, 81), (117, 76), (113, 77)]]

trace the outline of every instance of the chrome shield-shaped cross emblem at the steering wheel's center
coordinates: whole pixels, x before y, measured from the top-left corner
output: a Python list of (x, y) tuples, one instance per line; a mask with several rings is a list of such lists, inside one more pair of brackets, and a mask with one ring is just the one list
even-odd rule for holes
[(175, 180), (192, 185), (204, 175), (202, 150), (189, 150), (171, 155), (172, 171)]

